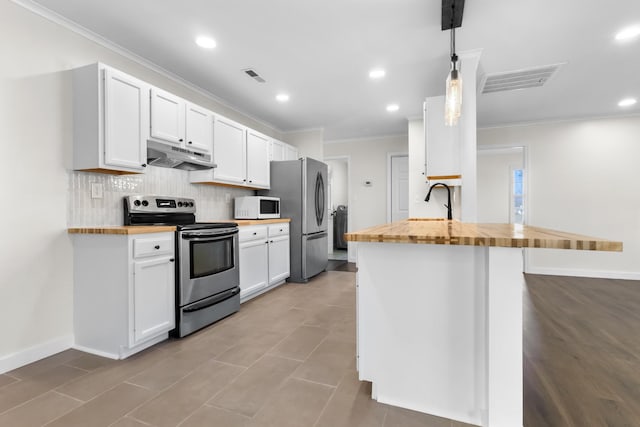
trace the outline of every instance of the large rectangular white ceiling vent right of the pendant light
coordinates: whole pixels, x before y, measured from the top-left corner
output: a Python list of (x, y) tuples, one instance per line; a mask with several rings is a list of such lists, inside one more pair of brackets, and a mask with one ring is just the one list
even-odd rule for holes
[(504, 92), (507, 90), (543, 86), (564, 64), (565, 63), (545, 65), (543, 67), (527, 68), (525, 70), (487, 74), (481, 86), (482, 93)]

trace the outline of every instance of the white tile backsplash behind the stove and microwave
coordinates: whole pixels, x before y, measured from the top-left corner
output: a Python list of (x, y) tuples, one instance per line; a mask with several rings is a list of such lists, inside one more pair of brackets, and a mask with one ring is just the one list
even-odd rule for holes
[[(69, 171), (67, 224), (69, 227), (122, 225), (122, 199), (129, 195), (189, 197), (196, 201), (197, 221), (233, 218), (233, 199), (252, 195), (252, 190), (191, 184), (189, 173), (149, 166), (145, 174), (107, 175)], [(91, 198), (91, 184), (103, 186), (101, 199)], [(225, 195), (229, 194), (229, 202)]]

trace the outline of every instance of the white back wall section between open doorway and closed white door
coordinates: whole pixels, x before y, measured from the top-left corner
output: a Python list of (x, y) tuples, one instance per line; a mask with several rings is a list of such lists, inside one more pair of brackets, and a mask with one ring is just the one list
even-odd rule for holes
[[(332, 141), (325, 143), (326, 157), (349, 156), (349, 231), (387, 222), (387, 154), (407, 153), (407, 137)], [(364, 181), (372, 181), (370, 187)], [(355, 251), (349, 243), (349, 258)]]

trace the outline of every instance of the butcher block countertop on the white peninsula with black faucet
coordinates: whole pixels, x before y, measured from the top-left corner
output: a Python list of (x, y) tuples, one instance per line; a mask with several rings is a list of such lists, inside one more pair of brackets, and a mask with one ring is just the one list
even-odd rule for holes
[(424, 243), (622, 252), (622, 242), (517, 224), (410, 218), (345, 234), (350, 242)]

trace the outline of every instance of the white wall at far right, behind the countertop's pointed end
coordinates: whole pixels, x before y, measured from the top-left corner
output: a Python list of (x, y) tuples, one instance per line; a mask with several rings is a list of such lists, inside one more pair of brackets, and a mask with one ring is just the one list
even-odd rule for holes
[(527, 147), (529, 225), (619, 240), (622, 253), (528, 250), (532, 273), (640, 279), (640, 116), (478, 131)]

